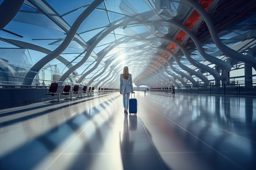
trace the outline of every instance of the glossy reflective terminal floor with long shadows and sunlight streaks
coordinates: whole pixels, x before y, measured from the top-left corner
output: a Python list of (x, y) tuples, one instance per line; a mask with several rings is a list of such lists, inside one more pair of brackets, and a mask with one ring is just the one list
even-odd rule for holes
[(0, 110), (0, 170), (254, 170), (256, 99), (135, 92)]

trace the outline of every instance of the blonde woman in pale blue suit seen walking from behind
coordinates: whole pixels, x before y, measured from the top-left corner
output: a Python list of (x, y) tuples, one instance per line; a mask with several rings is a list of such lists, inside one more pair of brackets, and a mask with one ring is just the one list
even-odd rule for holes
[(124, 113), (126, 114), (128, 114), (130, 93), (134, 93), (132, 75), (129, 74), (128, 66), (124, 66), (123, 74), (120, 75), (120, 94), (123, 95)]

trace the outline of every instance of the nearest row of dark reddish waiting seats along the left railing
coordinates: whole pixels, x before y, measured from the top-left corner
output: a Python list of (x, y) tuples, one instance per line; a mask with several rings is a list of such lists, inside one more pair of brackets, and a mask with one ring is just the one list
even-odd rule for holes
[(87, 93), (87, 96), (89, 95), (93, 95), (94, 94), (94, 87), (87, 87), (87, 86), (83, 86), (80, 87), (78, 85), (75, 85), (73, 87), (73, 90), (71, 90), (71, 86), (70, 85), (65, 85), (65, 86), (58, 86), (58, 83), (52, 83), (49, 91), (47, 94), (45, 95), (58, 95), (58, 101), (60, 100), (60, 95), (70, 95), (70, 99), (72, 99), (72, 95), (73, 94), (77, 94), (79, 97), (79, 94), (85, 94)]

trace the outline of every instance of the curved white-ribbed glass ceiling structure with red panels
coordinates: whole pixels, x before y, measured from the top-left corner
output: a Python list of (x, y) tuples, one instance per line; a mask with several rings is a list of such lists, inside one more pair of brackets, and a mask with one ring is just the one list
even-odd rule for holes
[(221, 84), (239, 64), (255, 74), (253, 1), (16, 1), (0, 0), (5, 83), (119, 88), (124, 66), (150, 88)]

